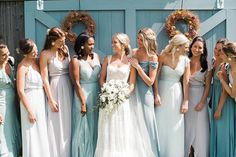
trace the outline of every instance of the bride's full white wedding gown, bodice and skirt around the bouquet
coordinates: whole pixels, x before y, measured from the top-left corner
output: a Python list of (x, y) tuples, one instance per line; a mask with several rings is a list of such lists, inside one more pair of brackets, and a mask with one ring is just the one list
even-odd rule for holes
[[(111, 56), (108, 57), (106, 81), (128, 81), (130, 65), (115, 67), (110, 60)], [(145, 124), (139, 128), (135, 121), (138, 118), (134, 113), (136, 102), (132, 101), (136, 99), (130, 99), (119, 105), (111, 116), (99, 110), (95, 157), (154, 157)], [(144, 120), (142, 123), (145, 123)], [(146, 130), (146, 133), (140, 134), (140, 129)]]

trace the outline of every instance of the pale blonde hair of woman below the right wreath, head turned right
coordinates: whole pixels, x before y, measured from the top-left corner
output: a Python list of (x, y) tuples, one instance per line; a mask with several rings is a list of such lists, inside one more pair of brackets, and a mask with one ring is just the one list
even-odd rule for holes
[(185, 35), (177, 34), (169, 41), (169, 44), (165, 47), (162, 53), (172, 55), (172, 61), (174, 62), (174, 55), (176, 52), (178, 52), (179, 46), (188, 43), (189, 40)]

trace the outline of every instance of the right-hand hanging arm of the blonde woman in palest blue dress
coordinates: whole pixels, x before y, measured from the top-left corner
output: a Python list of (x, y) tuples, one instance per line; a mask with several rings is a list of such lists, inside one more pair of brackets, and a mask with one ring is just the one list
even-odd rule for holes
[(181, 105), (181, 113), (186, 113), (188, 111), (188, 98), (189, 98), (189, 77), (190, 77), (190, 64), (188, 63), (183, 76), (183, 94), (184, 99)]

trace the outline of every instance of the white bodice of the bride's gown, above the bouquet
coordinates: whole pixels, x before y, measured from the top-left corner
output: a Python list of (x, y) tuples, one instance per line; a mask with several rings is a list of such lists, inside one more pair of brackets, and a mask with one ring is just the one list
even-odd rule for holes
[(130, 64), (124, 65), (122, 67), (115, 67), (112, 64), (110, 64), (110, 61), (111, 61), (111, 56), (108, 56), (106, 82), (110, 80), (123, 80), (127, 82), (129, 79)]

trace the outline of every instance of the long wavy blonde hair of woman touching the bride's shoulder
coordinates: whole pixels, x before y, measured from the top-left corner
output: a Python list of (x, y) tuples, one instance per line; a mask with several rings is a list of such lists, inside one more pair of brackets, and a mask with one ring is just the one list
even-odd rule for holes
[(157, 35), (151, 28), (143, 28), (138, 34), (142, 37), (143, 46), (148, 56), (156, 55), (157, 53)]

